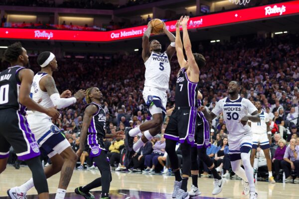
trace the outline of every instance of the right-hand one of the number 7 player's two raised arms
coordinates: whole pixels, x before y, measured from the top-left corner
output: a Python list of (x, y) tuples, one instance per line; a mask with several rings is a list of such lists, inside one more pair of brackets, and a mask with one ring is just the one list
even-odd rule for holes
[(183, 27), (183, 43), (184, 43), (184, 49), (186, 52), (187, 60), (189, 63), (189, 70), (190, 70), (190, 80), (192, 82), (198, 82), (199, 79), (199, 68), (195, 62), (195, 58), (192, 54), (192, 49), (191, 49), (191, 41), (188, 35), (188, 29), (187, 29), (187, 23), (189, 20), (189, 16), (184, 16), (181, 24)]

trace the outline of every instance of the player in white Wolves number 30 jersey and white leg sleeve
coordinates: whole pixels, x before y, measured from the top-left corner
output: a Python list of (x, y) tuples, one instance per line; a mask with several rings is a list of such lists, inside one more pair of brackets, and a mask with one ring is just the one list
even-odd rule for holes
[[(250, 164), (250, 151), (252, 148), (252, 131), (248, 125), (248, 120), (252, 122), (261, 122), (257, 108), (250, 100), (241, 98), (240, 84), (232, 81), (228, 85), (229, 97), (219, 100), (211, 113), (208, 113), (204, 106), (200, 110), (204, 116), (212, 121), (217, 115), (223, 112), (223, 118), (229, 132), (229, 155), (232, 170), (244, 181), (243, 195), (250, 194), (250, 199), (257, 199), (258, 194), (255, 192), (253, 169)], [(241, 160), (244, 169), (241, 167)]]

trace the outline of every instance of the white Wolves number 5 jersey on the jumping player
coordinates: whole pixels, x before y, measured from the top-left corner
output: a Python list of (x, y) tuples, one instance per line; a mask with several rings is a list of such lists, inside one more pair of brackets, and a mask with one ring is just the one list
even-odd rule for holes
[(145, 62), (145, 66), (145, 87), (168, 90), (170, 63), (166, 51), (161, 54), (151, 52), (149, 59)]

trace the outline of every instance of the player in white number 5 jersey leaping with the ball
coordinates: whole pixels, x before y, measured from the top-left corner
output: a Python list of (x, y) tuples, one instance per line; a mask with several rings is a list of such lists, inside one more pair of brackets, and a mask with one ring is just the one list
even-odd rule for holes
[[(161, 53), (161, 44), (157, 40), (153, 39), (149, 42), (151, 29), (149, 23), (142, 38), (142, 58), (146, 66), (146, 80), (143, 97), (149, 106), (149, 112), (152, 115), (152, 119), (142, 123), (134, 129), (125, 129), (125, 146), (127, 149), (125, 162), (127, 167), (128, 164), (130, 164), (132, 155), (135, 154), (135, 151), (161, 131), (163, 118), (166, 113), (166, 90), (168, 90), (170, 77), (170, 60), (175, 53), (175, 37), (167, 30), (164, 24), (163, 32), (167, 35), (171, 43), (167, 47), (167, 50)], [(134, 137), (140, 132), (144, 132), (144, 134), (133, 145)]]

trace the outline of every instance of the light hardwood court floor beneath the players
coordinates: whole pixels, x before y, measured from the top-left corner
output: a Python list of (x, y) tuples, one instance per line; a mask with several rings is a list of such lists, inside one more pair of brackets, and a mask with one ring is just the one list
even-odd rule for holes
[[(75, 170), (66, 195), (66, 199), (83, 199), (78, 195), (73, 194), (74, 189), (78, 186), (85, 185), (95, 178), (100, 176), (97, 170)], [(19, 186), (31, 177), (31, 172), (28, 167), (21, 167), (15, 170), (11, 166), (0, 174), (0, 199), (8, 198), (6, 195), (7, 189)], [(50, 198), (54, 199), (56, 193), (60, 173), (48, 179), (50, 193), (53, 193)], [(150, 175), (150, 174), (135, 174), (135, 173), (112, 173), (112, 183), (110, 188), (111, 199), (170, 199), (173, 190), (173, 176)], [(198, 186), (202, 194), (194, 199), (248, 199), (249, 196), (243, 197), (243, 185), (240, 180), (225, 179), (223, 191), (213, 196), (213, 179), (199, 178)], [(188, 182), (188, 188), (191, 187), (191, 178)], [(259, 199), (298, 199), (299, 184), (269, 184), (267, 182), (256, 183)], [(96, 199), (99, 198), (101, 189), (93, 191)], [(36, 195), (35, 189), (31, 189), (27, 195)], [(28, 199), (37, 198), (29, 196)]]

